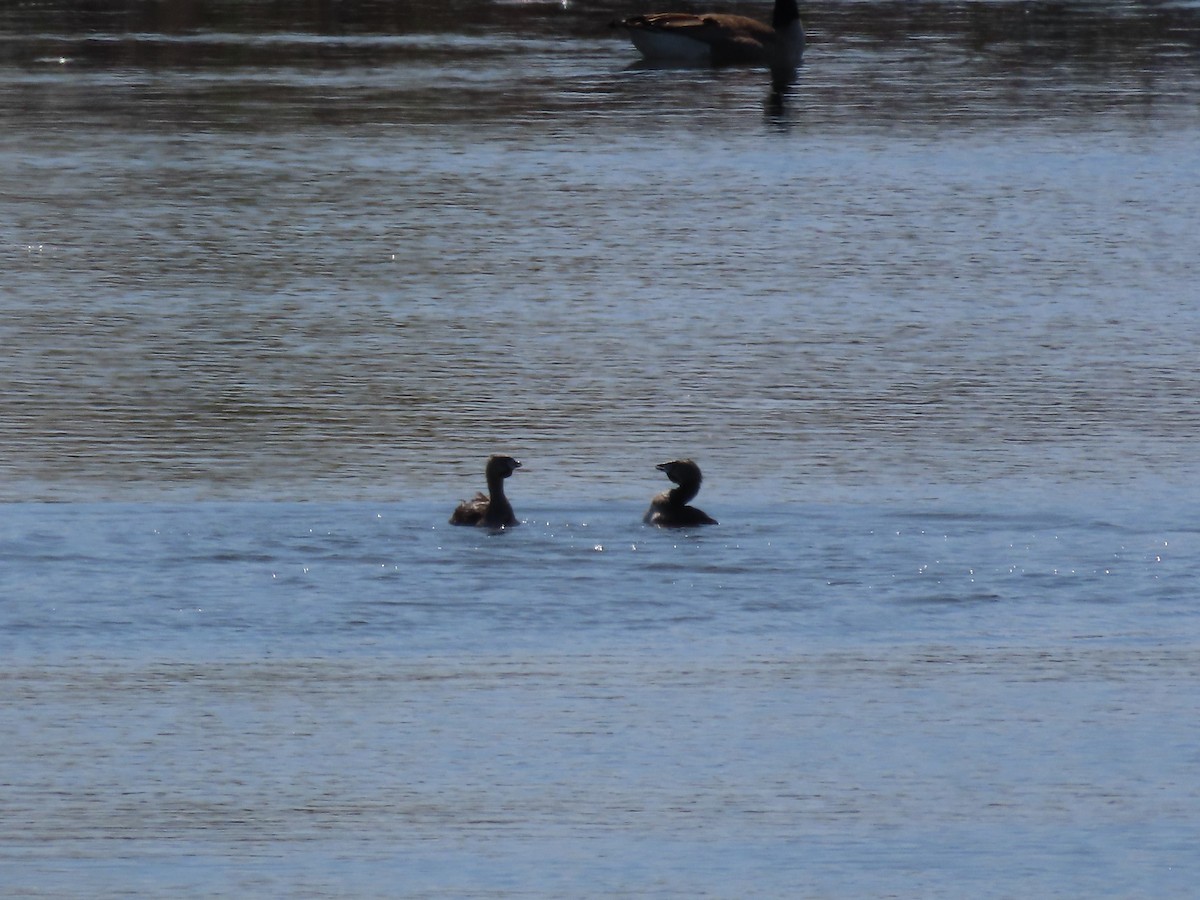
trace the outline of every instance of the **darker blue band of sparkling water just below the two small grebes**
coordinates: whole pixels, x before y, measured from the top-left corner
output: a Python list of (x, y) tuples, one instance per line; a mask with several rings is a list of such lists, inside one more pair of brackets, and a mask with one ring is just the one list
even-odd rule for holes
[(424, 504), (13, 504), (4, 649), (390, 658), (656, 647), (680, 631), (836, 648), (1092, 628), (1110, 642), (1177, 628), (1186, 643), (1190, 502), (1096, 499), (722, 506), (721, 526), (694, 532), (581, 504), (497, 533)]

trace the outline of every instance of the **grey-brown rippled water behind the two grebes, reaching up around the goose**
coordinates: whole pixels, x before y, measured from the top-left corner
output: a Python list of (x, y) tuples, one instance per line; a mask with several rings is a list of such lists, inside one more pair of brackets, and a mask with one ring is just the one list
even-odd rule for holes
[(6, 496), (1190, 475), (1186, 11), (820, 7), (764, 110), (470, 8), (10, 41)]

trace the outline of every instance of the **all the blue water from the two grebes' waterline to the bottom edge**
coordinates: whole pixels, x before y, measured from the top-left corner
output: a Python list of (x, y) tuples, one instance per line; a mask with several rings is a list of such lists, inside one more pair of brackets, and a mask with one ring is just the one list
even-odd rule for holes
[(8, 506), (0, 886), (1188, 893), (1190, 504), (966, 499)]

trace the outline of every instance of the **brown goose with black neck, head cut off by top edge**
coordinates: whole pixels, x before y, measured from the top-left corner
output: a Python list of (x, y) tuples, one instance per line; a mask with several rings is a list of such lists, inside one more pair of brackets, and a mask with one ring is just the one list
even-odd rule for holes
[(623, 26), (652, 62), (763, 65), (776, 82), (790, 82), (804, 55), (804, 25), (796, 0), (775, 0), (769, 25), (721, 12), (653, 12), (613, 24)]

